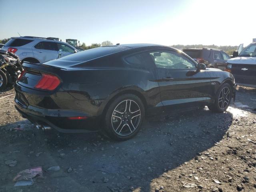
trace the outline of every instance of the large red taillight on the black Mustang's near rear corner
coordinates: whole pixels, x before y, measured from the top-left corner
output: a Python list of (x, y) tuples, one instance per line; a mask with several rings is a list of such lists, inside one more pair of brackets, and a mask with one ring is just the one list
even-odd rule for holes
[(52, 91), (58, 87), (60, 80), (58, 77), (50, 74), (42, 74), (42, 78), (36, 84), (35, 88)]

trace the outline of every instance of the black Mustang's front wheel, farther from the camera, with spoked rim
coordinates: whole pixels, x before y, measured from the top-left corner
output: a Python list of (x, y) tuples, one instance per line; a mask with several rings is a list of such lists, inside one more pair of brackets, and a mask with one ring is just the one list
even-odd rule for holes
[(227, 110), (231, 101), (231, 87), (228, 83), (224, 83), (218, 89), (215, 95), (215, 102), (212, 105), (208, 105), (208, 108), (217, 113), (221, 113)]

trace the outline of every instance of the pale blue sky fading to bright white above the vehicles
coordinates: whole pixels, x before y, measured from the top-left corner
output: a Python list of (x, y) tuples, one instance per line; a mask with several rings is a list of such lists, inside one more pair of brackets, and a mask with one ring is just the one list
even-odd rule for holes
[(86, 45), (247, 45), (256, 0), (0, 0), (0, 39), (78, 39)]

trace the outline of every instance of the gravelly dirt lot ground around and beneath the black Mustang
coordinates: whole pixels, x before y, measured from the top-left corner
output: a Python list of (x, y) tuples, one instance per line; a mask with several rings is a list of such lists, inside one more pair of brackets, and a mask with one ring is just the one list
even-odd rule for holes
[[(14, 95), (2, 98), (14, 91), (4, 92), (0, 192), (256, 191), (256, 89), (238, 89), (240, 104), (232, 102), (225, 113), (206, 107), (146, 119), (138, 136), (125, 142), (98, 133), (38, 131), (16, 112)], [(36, 166), (43, 167), (43, 178), (14, 187), (18, 172)], [(47, 172), (51, 166), (60, 170)]]

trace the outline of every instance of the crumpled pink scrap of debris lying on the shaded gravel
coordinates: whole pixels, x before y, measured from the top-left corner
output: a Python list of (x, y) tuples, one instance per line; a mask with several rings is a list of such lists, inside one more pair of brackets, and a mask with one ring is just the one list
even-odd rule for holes
[(36, 176), (42, 177), (43, 176), (43, 170), (42, 167), (35, 167), (31, 169), (25, 169), (17, 174), (16, 177), (14, 177), (13, 181), (20, 181), (20, 180), (31, 180), (35, 178)]

